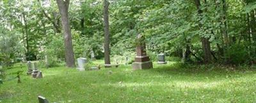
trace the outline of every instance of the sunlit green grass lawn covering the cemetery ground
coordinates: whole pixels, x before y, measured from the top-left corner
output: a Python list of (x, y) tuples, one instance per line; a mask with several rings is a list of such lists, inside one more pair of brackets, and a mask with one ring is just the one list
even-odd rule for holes
[[(95, 61), (97, 64), (102, 61)], [(26, 71), (16, 65), (7, 72)], [(256, 71), (182, 68), (175, 63), (132, 71), (131, 65), (100, 71), (40, 69), (44, 78), (22, 76), (0, 86), (1, 102), (256, 102)], [(113, 74), (109, 74), (113, 71)], [(24, 72), (25, 74), (25, 72)]]

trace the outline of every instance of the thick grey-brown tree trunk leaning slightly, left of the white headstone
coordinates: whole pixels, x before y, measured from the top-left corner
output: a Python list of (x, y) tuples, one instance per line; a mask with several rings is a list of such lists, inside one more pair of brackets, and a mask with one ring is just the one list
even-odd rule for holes
[(72, 46), (72, 36), (70, 31), (70, 25), (68, 21), (68, 5), (69, 0), (56, 0), (58, 8), (61, 14), (61, 23), (64, 31), (64, 43), (65, 43), (65, 60), (67, 67), (75, 67), (74, 51)]

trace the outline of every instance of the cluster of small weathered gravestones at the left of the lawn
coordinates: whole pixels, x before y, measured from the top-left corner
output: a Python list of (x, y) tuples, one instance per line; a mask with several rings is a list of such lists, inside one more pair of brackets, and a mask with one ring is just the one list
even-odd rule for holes
[(28, 76), (32, 76), (32, 78), (43, 78), (42, 71), (39, 71), (36, 65), (36, 62), (28, 61)]

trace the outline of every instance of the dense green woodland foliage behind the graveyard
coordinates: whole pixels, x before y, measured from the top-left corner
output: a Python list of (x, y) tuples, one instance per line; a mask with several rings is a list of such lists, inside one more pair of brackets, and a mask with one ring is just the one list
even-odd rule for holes
[[(133, 59), (134, 39), (142, 34), (153, 59), (157, 53), (166, 53), (184, 62), (256, 62), (256, 1), (109, 2), (112, 57)], [(26, 60), (43, 59), (44, 55), (65, 60), (56, 1), (0, 1), (0, 13), (4, 60), (23, 55)], [(97, 58), (104, 57), (103, 1), (72, 0), (69, 15), (75, 57), (90, 57), (92, 51)]]

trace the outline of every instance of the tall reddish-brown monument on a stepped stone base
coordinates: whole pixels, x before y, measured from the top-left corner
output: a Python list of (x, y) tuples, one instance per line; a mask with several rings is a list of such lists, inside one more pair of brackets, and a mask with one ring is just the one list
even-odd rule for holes
[(150, 61), (150, 58), (147, 56), (146, 46), (143, 43), (143, 36), (138, 35), (138, 46), (136, 47), (136, 57), (135, 62), (132, 63), (133, 70), (137, 69), (151, 69), (153, 64)]

